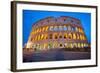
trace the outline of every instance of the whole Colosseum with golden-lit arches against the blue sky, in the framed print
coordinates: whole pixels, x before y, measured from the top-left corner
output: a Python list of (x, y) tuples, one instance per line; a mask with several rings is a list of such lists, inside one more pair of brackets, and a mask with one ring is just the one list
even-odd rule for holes
[(84, 50), (90, 47), (79, 19), (60, 16), (46, 17), (32, 26), (25, 46), (33, 51), (52, 49)]

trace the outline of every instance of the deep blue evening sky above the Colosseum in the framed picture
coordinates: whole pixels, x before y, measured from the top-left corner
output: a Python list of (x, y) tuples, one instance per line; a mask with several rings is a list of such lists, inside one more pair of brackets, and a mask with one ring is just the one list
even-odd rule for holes
[(85, 34), (88, 38), (88, 42), (91, 41), (90, 13), (23, 10), (23, 45), (28, 41), (28, 37), (32, 30), (32, 25), (36, 21), (50, 16), (53, 17), (70, 16), (79, 19), (82, 23)]

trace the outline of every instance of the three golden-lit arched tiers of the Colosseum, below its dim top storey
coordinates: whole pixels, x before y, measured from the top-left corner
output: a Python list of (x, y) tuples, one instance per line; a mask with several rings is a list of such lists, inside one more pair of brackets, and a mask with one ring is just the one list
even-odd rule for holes
[(26, 47), (32, 47), (36, 51), (54, 48), (84, 48), (88, 46), (88, 43), (84, 41), (87, 38), (83, 28), (76, 24), (56, 24), (52, 22), (48, 25), (37, 25), (37, 27), (32, 28), (30, 36), (28, 41), (31, 42), (28, 42)]

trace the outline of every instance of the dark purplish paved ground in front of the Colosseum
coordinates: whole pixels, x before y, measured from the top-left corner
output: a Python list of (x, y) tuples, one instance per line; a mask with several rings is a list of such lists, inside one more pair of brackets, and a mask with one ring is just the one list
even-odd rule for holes
[(23, 62), (90, 59), (90, 52), (43, 51), (24, 53)]

